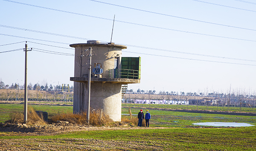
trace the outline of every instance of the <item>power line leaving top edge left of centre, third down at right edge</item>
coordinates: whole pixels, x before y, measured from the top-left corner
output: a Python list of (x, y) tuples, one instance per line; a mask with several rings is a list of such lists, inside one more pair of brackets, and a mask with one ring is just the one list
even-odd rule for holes
[(239, 28), (239, 29), (245, 29), (245, 30), (250, 30), (250, 31), (256, 31), (255, 29), (249, 29), (249, 28), (242, 28), (242, 27), (236, 27), (236, 26), (231, 26), (231, 25), (218, 24), (218, 23), (214, 23), (214, 22), (206, 22), (206, 21), (202, 21), (202, 20), (194, 20), (194, 19), (185, 18), (185, 17), (178, 17), (178, 16), (169, 15), (169, 14), (157, 13), (157, 12), (154, 12), (154, 11), (146, 11), (146, 10), (138, 9), (138, 8), (131, 8), (131, 7), (127, 7), (127, 6), (121, 6), (121, 5), (111, 4), (111, 3), (105, 3), (105, 2), (101, 2), (101, 1), (97, 1), (97, 0), (90, 0), (90, 1), (98, 2), (98, 3), (103, 3), (103, 4), (108, 4), (108, 5), (112, 5), (112, 6), (128, 8), (128, 9), (133, 9), (133, 10), (137, 10), (137, 11), (144, 11), (144, 12), (148, 12), (148, 13), (159, 14), (159, 15), (168, 16), (168, 17), (180, 18), (180, 19), (184, 19), (184, 20), (192, 20), (192, 21), (196, 21), (196, 22), (204, 22), (204, 23), (213, 24), (213, 25), (221, 25), (221, 26), (226, 26), (226, 27), (232, 27), (232, 28)]

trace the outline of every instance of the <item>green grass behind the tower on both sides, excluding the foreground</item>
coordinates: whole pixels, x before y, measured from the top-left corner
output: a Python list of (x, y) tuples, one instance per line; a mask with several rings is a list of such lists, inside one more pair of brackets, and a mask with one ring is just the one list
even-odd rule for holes
[[(55, 105), (30, 105), (35, 110), (48, 112), (49, 117), (63, 112), (72, 113), (73, 106), (55, 106)], [(0, 122), (9, 120), (9, 115), (14, 111), (23, 111), (23, 104), (0, 104)], [(131, 108), (133, 117), (137, 117), (140, 109)], [(144, 109), (145, 112), (145, 109)], [(150, 126), (154, 127), (199, 127), (193, 126), (192, 123), (198, 122), (238, 122), (238, 123), (253, 123), (256, 124), (255, 116), (241, 116), (241, 115), (219, 115), (219, 114), (202, 114), (202, 113), (188, 113), (188, 112), (173, 112), (162, 111), (158, 109), (150, 109), (151, 120)], [(122, 114), (129, 114), (128, 108), (122, 108)], [(130, 117), (129, 115), (122, 115), (122, 117)]]

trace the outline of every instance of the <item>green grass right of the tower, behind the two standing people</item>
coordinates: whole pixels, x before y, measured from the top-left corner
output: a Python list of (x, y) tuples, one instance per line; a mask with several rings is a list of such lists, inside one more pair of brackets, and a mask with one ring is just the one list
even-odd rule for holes
[[(133, 117), (137, 117), (140, 109), (131, 108)], [(242, 115), (220, 115), (220, 114), (203, 114), (203, 113), (188, 113), (188, 112), (174, 112), (162, 111), (157, 109), (150, 109), (151, 120), (150, 126), (155, 127), (200, 127), (193, 126), (192, 123), (198, 122), (238, 122), (238, 123), (252, 123), (256, 125), (255, 116)], [(128, 108), (122, 108), (122, 114), (129, 114)], [(144, 109), (145, 114), (145, 109)], [(123, 117), (130, 117), (129, 115), (122, 115)]]

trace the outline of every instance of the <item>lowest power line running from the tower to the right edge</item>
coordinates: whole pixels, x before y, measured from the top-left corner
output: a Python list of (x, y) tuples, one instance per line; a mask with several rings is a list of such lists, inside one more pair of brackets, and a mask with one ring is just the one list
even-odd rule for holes
[[(137, 53), (137, 52), (131, 52), (131, 51), (125, 51), (127, 53)], [(225, 64), (239, 64), (239, 63), (232, 63), (232, 62), (218, 62), (218, 61), (211, 61), (211, 60), (201, 60), (201, 59), (190, 59), (190, 58), (181, 58), (181, 57), (173, 57), (173, 56), (163, 56), (163, 55), (154, 55), (149, 53), (137, 53), (137, 54), (143, 54), (143, 55), (150, 55), (150, 56), (160, 56), (160, 57), (168, 57), (168, 58), (175, 58), (175, 59), (186, 59), (186, 60), (195, 60), (195, 61), (203, 61), (203, 62), (215, 62), (215, 63), (225, 63)], [(256, 66), (256, 64), (239, 64), (239, 65), (250, 65), (250, 66)]]

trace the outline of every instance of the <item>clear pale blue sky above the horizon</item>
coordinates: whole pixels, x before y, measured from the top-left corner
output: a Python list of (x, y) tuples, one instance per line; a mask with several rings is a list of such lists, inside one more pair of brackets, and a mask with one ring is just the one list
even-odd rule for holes
[[(110, 42), (116, 15), (112, 42), (128, 46), (122, 56), (141, 57), (141, 83), (128, 89), (225, 93), (231, 85), (231, 91), (256, 91), (255, 1), (100, 1), (0, 0), (2, 81), (23, 85), (23, 50), (1, 52), (28, 41), (28, 83), (73, 85), (74, 56), (35, 50), (74, 53), (65, 48), (87, 40)], [(21, 43), (5, 45), (15, 42)]]

